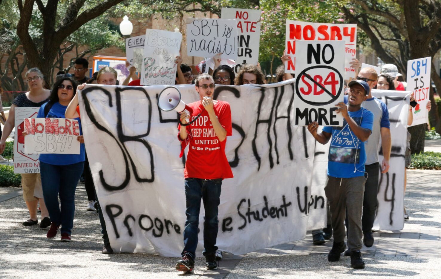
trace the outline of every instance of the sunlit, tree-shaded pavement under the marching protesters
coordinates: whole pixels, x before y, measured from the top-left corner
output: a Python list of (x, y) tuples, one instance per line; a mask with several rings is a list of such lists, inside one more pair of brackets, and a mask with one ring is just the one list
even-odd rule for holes
[[(330, 263), (332, 242), (285, 243), (242, 256), (225, 255), (220, 269), (206, 271), (196, 260), (195, 273), (176, 272), (177, 258), (149, 254), (101, 254), (98, 216), (87, 212), (86, 190), (78, 185), (72, 242), (49, 240), (47, 230), (24, 227), (28, 219), (19, 188), (0, 188), (1, 278), (359, 278), (380, 276), (439, 278), (441, 274), (441, 171), (408, 171), (405, 205), (410, 220), (402, 231), (374, 234), (374, 246), (363, 248), (366, 268), (354, 270), (349, 257)], [(7, 196), (9, 195), (9, 196)], [(3, 199), (2, 199), (3, 197)], [(4, 197), (8, 197), (5, 199)], [(40, 217), (39, 217), (40, 219)], [(332, 238), (331, 238), (332, 241)]]

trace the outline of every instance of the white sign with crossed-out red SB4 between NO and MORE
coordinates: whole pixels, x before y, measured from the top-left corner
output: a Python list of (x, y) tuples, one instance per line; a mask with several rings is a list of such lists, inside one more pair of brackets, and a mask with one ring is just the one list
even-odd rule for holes
[(342, 125), (335, 104), (344, 96), (344, 41), (297, 41), (296, 47), (303, 55), (295, 67), (294, 125)]

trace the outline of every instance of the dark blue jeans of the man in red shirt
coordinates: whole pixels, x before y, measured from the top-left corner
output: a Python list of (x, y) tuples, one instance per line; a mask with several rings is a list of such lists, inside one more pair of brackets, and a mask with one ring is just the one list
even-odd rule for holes
[(184, 229), (184, 249), (185, 253), (190, 253), (194, 259), (196, 257), (196, 247), (198, 246), (198, 227), (199, 211), (201, 209), (201, 199), (204, 203), (205, 222), (204, 222), (204, 251), (202, 254), (216, 253), (216, 238), (218, 231), (217, 207), (221, 203), (222, 179), (185, 179), (185, 200), (187, 203), (187, 221)]

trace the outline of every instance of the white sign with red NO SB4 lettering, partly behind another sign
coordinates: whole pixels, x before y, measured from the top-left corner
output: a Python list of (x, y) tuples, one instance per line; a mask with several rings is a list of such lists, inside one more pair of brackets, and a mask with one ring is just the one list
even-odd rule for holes
[(303, 49), (296, 46), (299, 40), (307, 41), (345, 41), (343, 47), (344, 56), (344, 79), (355, 78), (355, 70), (349, 63), (355, 58), (357, 46), (357, 25), (356, 24), (332, 24), (314, 23), (295, 20), (286, 20), (286, 54), (291, 56), (291, 61), (285, 63), (285, 73), (295, 73), (296, 50), (303, 54)]

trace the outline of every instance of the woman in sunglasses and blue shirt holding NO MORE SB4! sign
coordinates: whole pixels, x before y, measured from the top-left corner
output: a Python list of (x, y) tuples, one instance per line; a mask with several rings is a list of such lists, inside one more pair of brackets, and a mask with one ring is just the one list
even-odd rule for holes
[[(75, 95), (77, 85), (72, 78), (58, 79), (51, 89), (49, 102), (43, 104), (38, 112), (38, 118), (64, 118), (67, 105)], [(84, 140), (81, 122), (78, 120), (79, 134), (77, 140), (81, 143), (80, 154), (40, 154), (41, 184), (46, 207), (52, 220), (52, 225), (46, 234), (54, 238), (61, 225), (61, 241), (71, 241), (71, 231), (74, 223), (75, 190), (84, 165)], [(61, 207), (58, 205), (60, 196)]]

